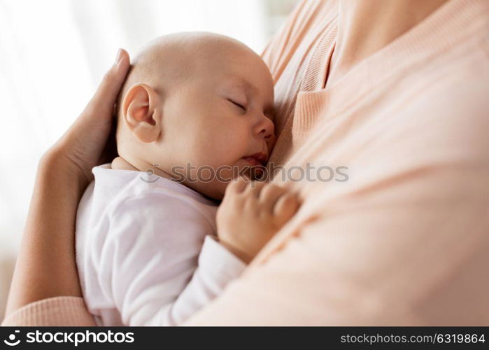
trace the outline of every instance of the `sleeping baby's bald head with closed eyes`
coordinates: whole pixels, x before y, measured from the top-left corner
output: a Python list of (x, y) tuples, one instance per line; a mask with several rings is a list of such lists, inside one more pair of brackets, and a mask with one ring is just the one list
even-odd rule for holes
[(162, 36), (134, 59), (122, 88), (118, 153), (220, 199), (236, 169), (267, 161), (273, 104), (269, 69), (246, 45), (201, 32)]

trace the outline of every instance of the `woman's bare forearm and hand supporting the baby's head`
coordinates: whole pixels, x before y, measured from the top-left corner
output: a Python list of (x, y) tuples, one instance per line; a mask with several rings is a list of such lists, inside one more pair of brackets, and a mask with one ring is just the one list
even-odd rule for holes
[(7, 316), (45, 298), (81, 296), (74, 245), (76, 208), (92, 180), (92, 167), (108, 160), (113, 106), (128, 69), (129, 55), (120, 50), (83, 113), (38, 165)]

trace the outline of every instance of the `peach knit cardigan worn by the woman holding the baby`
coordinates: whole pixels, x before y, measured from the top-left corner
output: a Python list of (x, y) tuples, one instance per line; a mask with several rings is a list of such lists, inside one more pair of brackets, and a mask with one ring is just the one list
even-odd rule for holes
[[(337, 14), (302, 1), (263, 54), (270, 162), (349, 179), (286, 181), (297, 216), (187, 324), (489, 325), (489, 1), (448, 1), (330, 86)], [(90, 323), (83, 300), (3, 324), (55, 323)]]

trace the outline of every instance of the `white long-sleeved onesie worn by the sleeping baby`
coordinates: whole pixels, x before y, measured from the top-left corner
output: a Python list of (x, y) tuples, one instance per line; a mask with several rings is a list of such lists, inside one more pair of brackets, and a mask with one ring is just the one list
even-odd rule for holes
[(78, 207), (76, 263), (98, 325), (178, 325), (243, 272), (213, 238), (211, 200), (145, 172), (109, 164), (92, 172)]

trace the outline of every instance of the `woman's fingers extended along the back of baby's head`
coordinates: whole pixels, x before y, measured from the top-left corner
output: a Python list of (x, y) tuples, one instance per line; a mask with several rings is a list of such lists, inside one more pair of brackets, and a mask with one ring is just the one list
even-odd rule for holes
[(112, 117), (113, 107), (129, 71), (129, 65), (129, 54), (119, 49), (113, 66), (105, 74), (85, 111), (89, 111), (90, 115), (90, 111), (97, 111), (97, 116), (102, 118)]

